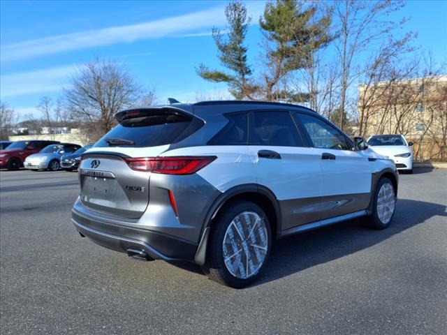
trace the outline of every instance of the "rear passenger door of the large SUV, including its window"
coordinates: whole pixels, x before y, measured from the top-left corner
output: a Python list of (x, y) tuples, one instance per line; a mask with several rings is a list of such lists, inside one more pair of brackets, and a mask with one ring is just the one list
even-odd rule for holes
[(304, 143), (290, 112), (251, 112), (249, 155), (257, 184), (279, 202), (282, 230), (320, 219), (320, 156)]

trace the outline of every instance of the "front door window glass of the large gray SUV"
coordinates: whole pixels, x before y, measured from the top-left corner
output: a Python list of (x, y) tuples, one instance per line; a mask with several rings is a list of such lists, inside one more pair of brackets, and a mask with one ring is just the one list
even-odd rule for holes
[(349, 150), (344, 135), (330, 124), (307, 114), (297, 115), (312, 141), (312, 147)]

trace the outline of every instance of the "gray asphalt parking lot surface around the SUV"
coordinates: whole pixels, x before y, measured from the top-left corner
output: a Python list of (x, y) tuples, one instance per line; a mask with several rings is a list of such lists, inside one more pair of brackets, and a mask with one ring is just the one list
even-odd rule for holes
[(401, 175), (387, 230), (357, 220), (279, 241), (243, 290), (82, 239), (76, 173), (0, 181), (1, 334), (446, 334), (447, 170)]

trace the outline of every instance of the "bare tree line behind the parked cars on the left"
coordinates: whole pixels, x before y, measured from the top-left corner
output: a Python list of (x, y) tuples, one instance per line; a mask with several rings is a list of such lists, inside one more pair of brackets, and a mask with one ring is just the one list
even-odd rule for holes
[(39, 134), (42, 128), (52, 133), (59, 127), (81, 128), (90, 140), (110, 131), (115, 125), (115, 113), (126, 108), (152, 105), (156, 101), (155, 89), (145, 89), (126, 68), (115, 60), (94, 59), (80, 66), (63, 87), (57, 101), (43, 96), (34, 114), (18, 115), (7, 103), (0, 103), (0, 138), (7, 140), (17, 128)]

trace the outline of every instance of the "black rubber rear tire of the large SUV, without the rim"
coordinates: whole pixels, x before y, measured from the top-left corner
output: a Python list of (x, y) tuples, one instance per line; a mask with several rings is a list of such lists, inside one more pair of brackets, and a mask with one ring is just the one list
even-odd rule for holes
[[(237, 276), (233, 276), (233, 274), (228, 271), (225, 265), (225, 260), (223, 258), (223, 239), (226, 230), (233, 219), (244, 211), (255, 212), (264, 221), (268, 239), (267, 252), (265, 253), (265, 258), (261, 267), (255, 274), (248, 278), (237, 278)], [(265, 264), (268, 262), (271, 246), (272, 236), (270, 232), (270, 222), (261, 207), (248, 201), (232, 202), (222, 209), (221, 214), (215, 219), (212, 225), (210, 237), (208, 239), (207, 257), (202, 269), (212, 281), (216, 281), (222, 285), (228, 285), (232, 288), (244, 288), (260, 276)]]

